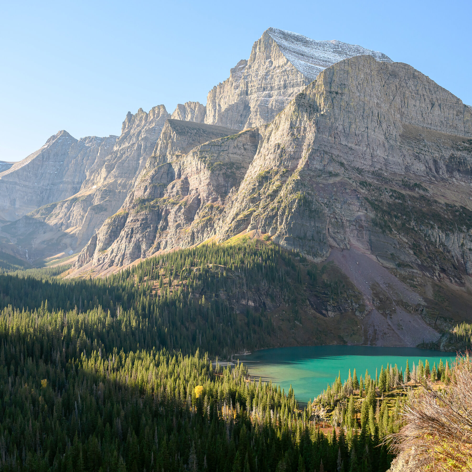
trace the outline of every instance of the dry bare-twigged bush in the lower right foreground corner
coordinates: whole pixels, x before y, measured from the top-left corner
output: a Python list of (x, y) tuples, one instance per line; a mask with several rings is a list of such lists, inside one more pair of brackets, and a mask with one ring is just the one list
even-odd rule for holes
[[(418, 471), (472, 471), (472, 364), (457, 358), (450, 383), (436, 389), (429, 380), (409, 392), (407, 423), (390, 436)], [(436, 386), (437, 387), (437, 386)]]

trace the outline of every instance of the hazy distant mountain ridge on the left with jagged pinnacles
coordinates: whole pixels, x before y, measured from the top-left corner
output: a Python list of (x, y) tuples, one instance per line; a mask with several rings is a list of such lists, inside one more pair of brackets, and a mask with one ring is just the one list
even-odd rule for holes
[[(1, 228), (1, 235), (9, 242), (0, 247), (17, 257), (25, 257), (27, 251), (30, 260), (61, 252), (72, 254), (76, 248), (82, 249), (106, 218), (116, 213), (125, 201), (168, 118), (169, 113), (160, 105), (149, 113), (142, 109), (134, 115), (128, 112), (118, 138), (77, 141), (68, 133), (59, 132), (42, 150), (1, 174), (0, 192), (9, 192), (15, 201), (24, 196), (24, 200), (37, 203), (31, 204), (28, 210), (36, 209), (28, 215)], [(82, 141), (88, 143), (93, 139), (107, 141), (95, 154), (76, 151)], [(90, 159), (86, 159), (87, 156)], [(58, 176), (55, 169), (62, 173)], [(43, 176), (38, 190), (35, 175)], [(10, 181), (6, 180), (8, 178)], [(13, 179), (16, 186), (11, 183)], [(68, 179), (76, 185), (66, 185)], [(31, 182), (33, 190), (24, 189), (21, 181)]]

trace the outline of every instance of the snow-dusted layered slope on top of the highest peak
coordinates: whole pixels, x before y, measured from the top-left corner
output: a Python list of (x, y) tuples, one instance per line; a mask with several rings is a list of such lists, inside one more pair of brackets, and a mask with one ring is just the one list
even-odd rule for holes
[(337, 40), (316, 41), (277, 28), (269, 28), (266, 33), (278, 44), (287, 60), (310, 80), (314, 80), (323, 69), (354, 56), (371, 55), (379, 61), (393, 62), (382, 52), (365, 49), (357, 44)]

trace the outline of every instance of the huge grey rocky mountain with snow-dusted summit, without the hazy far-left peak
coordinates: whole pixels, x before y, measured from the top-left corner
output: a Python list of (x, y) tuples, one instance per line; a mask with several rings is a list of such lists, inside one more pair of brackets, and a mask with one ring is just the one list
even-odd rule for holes
[[(307, 295), (296, 308), (307, 326), (355, 319), (345, 342), (439, 346), (470, 321), (471, 110), (382, 53), (270, 28), (206, 108), (128, 113), (80, 189), (4, 224), (0, 245), (30, 260), (80, 252), (70, 275), (105, 275), (204, 241), (259, 239), (323, 274), (336, 266), (339, 296), (351, 287), (345, 302)], [(248, 287), (243, 298), (257, 312), (276, 309), (271, 296)]]

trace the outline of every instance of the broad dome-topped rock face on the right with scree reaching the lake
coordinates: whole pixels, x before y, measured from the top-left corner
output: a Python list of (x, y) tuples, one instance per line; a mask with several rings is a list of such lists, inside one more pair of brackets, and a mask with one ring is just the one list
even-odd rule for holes
[(218, 236), (329, 257), (364, 295), (364, 343), (435, 341), (471, 301), (471, 138), (471, 108), (411, 66), (341, 61), (261, 129)]

